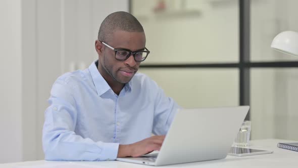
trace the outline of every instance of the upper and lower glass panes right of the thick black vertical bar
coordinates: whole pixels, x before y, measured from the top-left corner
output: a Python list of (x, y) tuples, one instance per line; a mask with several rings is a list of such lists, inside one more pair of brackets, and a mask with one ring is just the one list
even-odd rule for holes
[(253, 139), (298, 140), (298, 58), (270, 48), (278, 33), (298, 31), (297, 6), (294, 0), (251, 1), (251, 62), (256, 65), (250, 67)]

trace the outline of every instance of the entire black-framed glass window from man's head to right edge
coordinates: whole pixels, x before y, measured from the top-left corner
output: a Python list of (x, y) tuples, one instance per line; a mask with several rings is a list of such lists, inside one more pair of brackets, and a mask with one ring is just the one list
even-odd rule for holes
[[(185, 107), (251, 105), (245, 119), (252, 121), (252, 139), (298, 140), (297, 134), (291, 135), (298, 126), (298, 58), (270, 48), (278, 33), (298, 31), (298, 1), (130, 2), (130, 11), (144, 25), (152, 51), (141, 71), (169, 96)], [(206, 85), (200, 83), (200, 76)], [(197, 81), (192, 85), (195, 94), (212, 98), (194, 97), (200, 104), (187, 102), (191, 93), (183, 80)], [(187, 88), (185, 95), (176, 94), (175, 87)]]

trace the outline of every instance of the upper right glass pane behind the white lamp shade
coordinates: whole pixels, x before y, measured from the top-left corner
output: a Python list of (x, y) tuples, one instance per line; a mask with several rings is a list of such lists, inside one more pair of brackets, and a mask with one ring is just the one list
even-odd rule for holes
[(251, 61), (289, 61), (298, 59), (273, 50), (271, 42), (280, 32), (298, 32), (298, 1), (251, 1)]

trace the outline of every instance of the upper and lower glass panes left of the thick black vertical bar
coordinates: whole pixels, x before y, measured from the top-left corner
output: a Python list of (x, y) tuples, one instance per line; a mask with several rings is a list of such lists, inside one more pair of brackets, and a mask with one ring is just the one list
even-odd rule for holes
[[(140, 72), (156, 80), (182, 107), (239, 103), (237, 68), (189, 68), (190, 64), (238, 62), (237, 0), (130, 3), (130, 11), (143, 25), (146, 47), (151, 51)], [(161, 67), (152, 67), (155, 65)], [(180, 67), (166, 67), (172, 65)]]

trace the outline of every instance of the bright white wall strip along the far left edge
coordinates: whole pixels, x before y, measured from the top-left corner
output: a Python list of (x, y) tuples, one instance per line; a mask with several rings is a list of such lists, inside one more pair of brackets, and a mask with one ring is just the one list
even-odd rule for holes
[(22, 159), (21, 1), (0, 1), (0, 162)]

